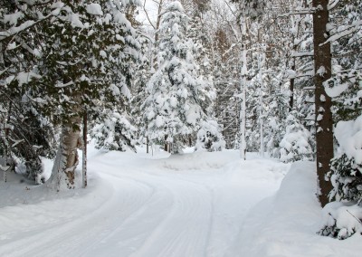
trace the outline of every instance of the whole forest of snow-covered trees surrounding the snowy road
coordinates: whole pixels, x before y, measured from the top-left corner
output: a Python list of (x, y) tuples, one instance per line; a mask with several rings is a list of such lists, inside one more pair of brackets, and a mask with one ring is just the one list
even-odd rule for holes
[(9, 0), (0, 24), (4, 171), (74, 188), (85, 133), (316, 161), (322, 206), (361, 204), (361, 1)]

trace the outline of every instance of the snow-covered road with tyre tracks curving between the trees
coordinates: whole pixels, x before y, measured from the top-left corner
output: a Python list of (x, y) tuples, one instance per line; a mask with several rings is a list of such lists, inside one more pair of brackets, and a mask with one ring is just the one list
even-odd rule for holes
[(235, 151), (97, 154), (89, 188), (0, 209), (0, 256), (224, 256), (287, 169)]

